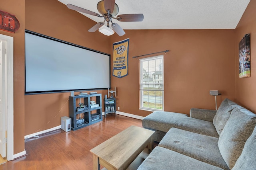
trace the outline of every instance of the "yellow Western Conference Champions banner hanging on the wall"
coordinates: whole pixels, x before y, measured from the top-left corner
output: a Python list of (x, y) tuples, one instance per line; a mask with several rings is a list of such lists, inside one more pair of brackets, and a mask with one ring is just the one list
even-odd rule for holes
[(113, 43), (113, 76), (118, 78), (128, 75), (129, 38)]

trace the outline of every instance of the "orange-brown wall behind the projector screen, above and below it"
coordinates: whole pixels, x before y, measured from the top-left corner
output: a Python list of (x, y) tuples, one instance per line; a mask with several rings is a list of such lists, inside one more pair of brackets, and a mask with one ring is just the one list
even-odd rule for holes
[[(25, 28), (30, 31), (110, 54), (110, 37), (89, 33), (96, 23), (57, 0), (26, 0), (25, 16)], [(107, 90), (98, 93), (104, 95)], [(68, 96), (70, 92), (26, 95), (25, 135), (60, 125), (60, 117), (69, 116)]]

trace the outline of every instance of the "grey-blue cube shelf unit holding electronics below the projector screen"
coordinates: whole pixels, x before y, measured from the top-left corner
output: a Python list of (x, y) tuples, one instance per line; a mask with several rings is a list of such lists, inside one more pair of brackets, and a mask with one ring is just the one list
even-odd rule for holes
[[(95, 101), (96, 99), (96, 101)], [(98, 107), (91, 108), (90, 101), (94, 100)], [(77, 111), (79, 103), (84, 104), (88, 109)], [(81, 129), (93, 123), (102, 121), (102, 98), (101, 94), (85, 94), (81, 96), (69, 96), (69, 116), (72, 119), (72, 130)]]

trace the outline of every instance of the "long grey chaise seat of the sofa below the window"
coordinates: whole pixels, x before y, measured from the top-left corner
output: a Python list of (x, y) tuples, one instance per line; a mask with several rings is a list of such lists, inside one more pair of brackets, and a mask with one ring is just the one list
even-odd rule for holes
[(219, 137), (212, 122), (188, 117), (188, 115), (182, 113), (154, 111), (142, 119), (142, 126), (165, 133), (172, 127), (176, 127), (202, 135)]

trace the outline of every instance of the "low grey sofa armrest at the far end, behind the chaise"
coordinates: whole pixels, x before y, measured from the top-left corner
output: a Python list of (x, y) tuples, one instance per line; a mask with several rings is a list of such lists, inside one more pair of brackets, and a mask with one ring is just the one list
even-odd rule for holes
[(201, 119), (205, 121), (213, 121), (213, 118), (216, 114), (216, 110), (208, 110), (208, 109), (190, 109), (190, 117)]

